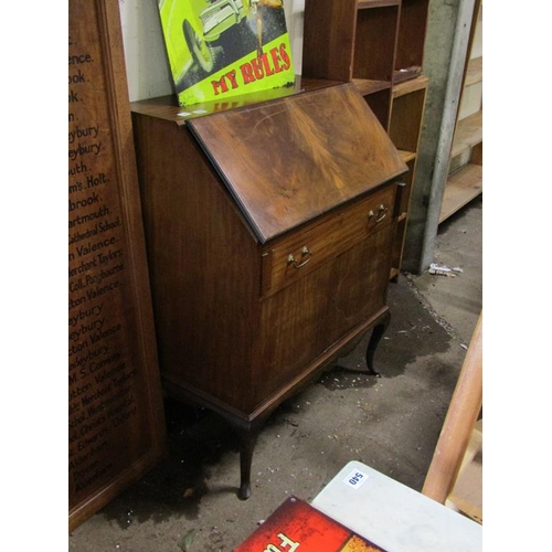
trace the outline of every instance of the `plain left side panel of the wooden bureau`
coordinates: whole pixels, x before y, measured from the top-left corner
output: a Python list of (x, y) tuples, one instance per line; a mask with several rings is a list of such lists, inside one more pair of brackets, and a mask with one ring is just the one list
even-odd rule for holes
[(134, 114), (161, 372), (247, 411), (259, 255), (185, 127)]

